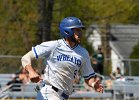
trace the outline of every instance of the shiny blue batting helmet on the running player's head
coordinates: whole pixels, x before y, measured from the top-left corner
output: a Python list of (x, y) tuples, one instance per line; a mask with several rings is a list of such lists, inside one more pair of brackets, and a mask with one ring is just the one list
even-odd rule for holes
[(74, 34), (73, 28), (84, 28), (84, 25), (79, 18), (67, 17), (61, 21), (59, 28), (60, 35), (64, 38), (68, 38)]

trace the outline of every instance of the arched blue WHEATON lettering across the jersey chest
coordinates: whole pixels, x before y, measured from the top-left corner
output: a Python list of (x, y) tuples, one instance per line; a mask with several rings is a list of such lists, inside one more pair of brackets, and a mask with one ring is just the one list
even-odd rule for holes
[(70, 56), (70, 55), (58, 55), (57, 60), (58, 61), (70, 61), (70, 62), (78, 65), (79, 67), (81, 66), (81, 60), (76, 57)]

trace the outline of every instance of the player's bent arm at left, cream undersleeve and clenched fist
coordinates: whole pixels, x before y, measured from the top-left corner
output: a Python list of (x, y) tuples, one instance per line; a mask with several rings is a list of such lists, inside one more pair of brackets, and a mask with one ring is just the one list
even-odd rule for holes
[(41, 78), (38, 75), (38, 73), (31, 66), (32, 59), (35, 59), (35, 56), (33, 54), (33, 51), (31, 50), (22, 57), (21, 63), (22, 63), (22, 66), (29, 72), (30, 80), (32, 82), (39, 82), (41, 80)]

